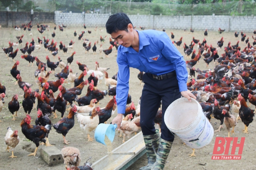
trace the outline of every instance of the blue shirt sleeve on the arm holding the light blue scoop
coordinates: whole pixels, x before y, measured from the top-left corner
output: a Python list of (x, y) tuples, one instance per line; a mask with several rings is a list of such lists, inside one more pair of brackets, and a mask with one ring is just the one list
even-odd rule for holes
[(117, 65), (117, 95), (115, 99), (117, 101), (117, 113), (124, 114), (129, 91), (130, 69), (120, 47), (117, 53)]

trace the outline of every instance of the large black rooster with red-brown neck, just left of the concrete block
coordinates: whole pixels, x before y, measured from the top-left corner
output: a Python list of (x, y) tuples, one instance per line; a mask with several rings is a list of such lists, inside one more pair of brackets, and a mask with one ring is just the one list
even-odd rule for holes
[(30, 125), (31, 117), (30, 115), (26, 115), (26, 117), (22, 120), (20, 123), (21, 131), (25, 135), (27, 139), (30, 141), (33, 141), (35, 143), (36, 148), (35, 152), (29, 154), (28, 156), (35, 156), (37, 153), (37, 149), (39, 146), (39, 142), (46, 143), (45, 137), (50, 132), (50, 125), (44, 126), (36, 126), (36, 125)]

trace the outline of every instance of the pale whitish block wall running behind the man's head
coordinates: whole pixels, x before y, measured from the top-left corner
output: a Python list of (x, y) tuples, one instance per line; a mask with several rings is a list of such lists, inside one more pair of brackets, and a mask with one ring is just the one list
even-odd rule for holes
[[(219, 27), (226, 31), (254, 31), (256, 16), (163, 16), (163, 15), (128, 15), (134, 26), (147, 29), (198, 29), (215, 30)], [(104, 27), (109, 14), (61, 13), (55, 11), (55, 23), (68, 26)]]

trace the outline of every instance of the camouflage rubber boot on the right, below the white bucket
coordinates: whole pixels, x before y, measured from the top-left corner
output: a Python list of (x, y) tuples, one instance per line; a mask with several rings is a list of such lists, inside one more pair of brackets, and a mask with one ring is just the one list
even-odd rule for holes
[(156, 154), (156, 162), (152, 166), (151, 170), (163, 170), (165, 162), (170, 153), (173, 142), (160, 139), (158, 152)]

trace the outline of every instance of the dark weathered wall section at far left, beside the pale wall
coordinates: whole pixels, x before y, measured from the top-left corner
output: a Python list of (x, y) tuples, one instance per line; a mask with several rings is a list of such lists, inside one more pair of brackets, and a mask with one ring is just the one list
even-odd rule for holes
[(34, 12), (31, 15), (30, 12), (0, 11), (0, 25), (3, 27), (27, 24), (31, 20), (34, 25), (37, 23), (54, 23), (54, 13)]

